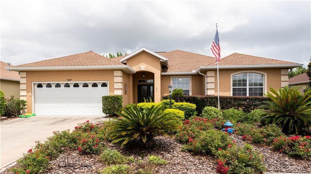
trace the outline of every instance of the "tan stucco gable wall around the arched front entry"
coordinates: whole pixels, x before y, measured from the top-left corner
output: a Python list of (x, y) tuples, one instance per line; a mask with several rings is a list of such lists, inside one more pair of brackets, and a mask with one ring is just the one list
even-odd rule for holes
[[(148, 71), (154, 73), (154, 100), (155, 102), (161, 101), (161, 63), (160, 59), (147, 52), (142, 52), (126, 60), (126, 64), (136, 72)], [(135, 75), (134, 75), (135, 76)], [(137, 85), (134, 85), (134, 87)], [(137, 90), (133, 90), (133, 101), (137, 102)]]

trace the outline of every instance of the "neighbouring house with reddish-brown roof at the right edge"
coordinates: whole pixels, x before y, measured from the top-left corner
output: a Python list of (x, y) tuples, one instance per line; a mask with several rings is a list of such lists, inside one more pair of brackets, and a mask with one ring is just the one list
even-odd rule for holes
[(292, 88), (292, 89), (298, 89), (298, 91), (300, 91), (302, 94), (304, 94), (304, 89), (306, 89), (310, 82), (310, 79), (307, 75), (307, 73), (302, 73), (298, 76), (292, 77), (290, 79), (288, 79), (288, 85)]

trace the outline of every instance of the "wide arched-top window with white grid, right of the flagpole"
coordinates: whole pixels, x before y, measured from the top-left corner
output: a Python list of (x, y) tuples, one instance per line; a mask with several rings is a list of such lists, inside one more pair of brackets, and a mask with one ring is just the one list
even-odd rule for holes
[(259, 73), (245, 72), (232, 76), (233, 96), (262, 96), (264, 76)]

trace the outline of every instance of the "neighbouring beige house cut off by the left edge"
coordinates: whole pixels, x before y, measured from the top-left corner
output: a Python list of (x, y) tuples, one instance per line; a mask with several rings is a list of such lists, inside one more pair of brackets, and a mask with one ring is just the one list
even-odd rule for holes
[(20, 76), (16, 71), (9, 71), (6, 67), (13, 67), (8, 63), (1, 62), (0, 89), (4, 92), (5, 98), (20, 98)]

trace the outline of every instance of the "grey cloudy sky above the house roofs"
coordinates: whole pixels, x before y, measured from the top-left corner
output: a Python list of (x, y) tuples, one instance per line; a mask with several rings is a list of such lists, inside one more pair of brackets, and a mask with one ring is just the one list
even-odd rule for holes
[(309, 63), (310, 2), (1, 1), (1, 60), (13, 65), (94, 51), (234, 52)]

